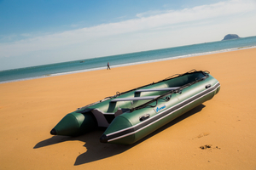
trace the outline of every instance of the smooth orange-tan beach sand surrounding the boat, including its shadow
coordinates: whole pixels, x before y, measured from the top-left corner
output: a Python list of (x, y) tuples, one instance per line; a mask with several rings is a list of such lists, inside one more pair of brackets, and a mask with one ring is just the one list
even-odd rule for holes
[[(255, 169), (255, 64), (247, 48), (0, 84), (0, 169)], [(220, 92), (136, 144), (102, 144), (102, 130), (49, 134), (79, 107), (192, 69)]]

